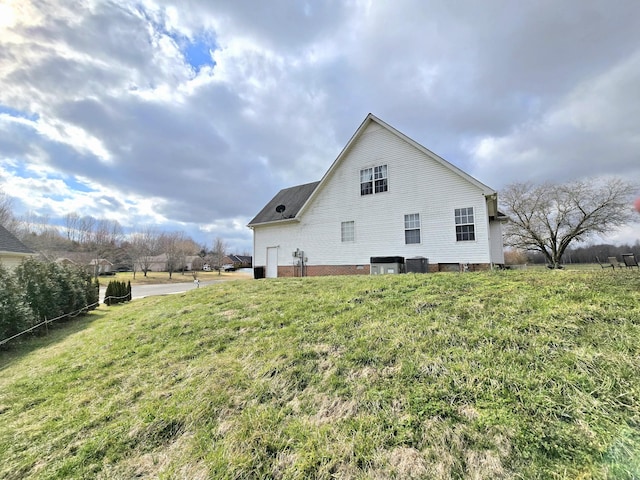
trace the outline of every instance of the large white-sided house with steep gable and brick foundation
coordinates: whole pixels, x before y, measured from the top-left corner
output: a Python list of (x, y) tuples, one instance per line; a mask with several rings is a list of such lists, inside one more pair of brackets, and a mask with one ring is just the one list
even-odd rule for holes
[(504, 219), (495, 190), (369, 114), (319, 182), (281, 190), (248, 226), (254, 269), (287, 277), (402, 270), (406, 259), (489, 269), (504, 264)]

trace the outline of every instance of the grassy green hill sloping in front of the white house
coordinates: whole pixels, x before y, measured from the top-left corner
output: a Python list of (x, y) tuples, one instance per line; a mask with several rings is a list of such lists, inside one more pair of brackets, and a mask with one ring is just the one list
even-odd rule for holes
[(228, 282), (0, 352), (0, 477), (640, 477), (640, 273)]

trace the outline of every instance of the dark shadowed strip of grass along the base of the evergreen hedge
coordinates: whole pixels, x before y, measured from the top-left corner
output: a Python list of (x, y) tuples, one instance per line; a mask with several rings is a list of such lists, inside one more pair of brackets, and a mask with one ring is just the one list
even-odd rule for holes
[(70, 335), (83, 331), (107, 313), (106, 310), (100, 311), (98, 309), (74, 318), (58, 320), (0, 346), (0, 371), (25, 355), (40, 348), (54, 345)]

